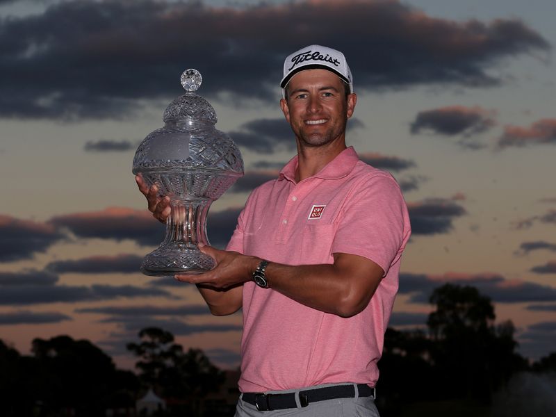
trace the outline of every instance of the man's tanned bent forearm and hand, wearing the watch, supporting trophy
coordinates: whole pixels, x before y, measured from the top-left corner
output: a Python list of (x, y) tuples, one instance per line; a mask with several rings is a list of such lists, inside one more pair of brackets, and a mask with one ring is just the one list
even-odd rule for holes
[[(176, 275), (176, 279), (202, 285), (202, 289), (207, 292), (202, 292), (205, 300), (225, 288), (237, 291), (241, 288), (238, 285), (252, 279), (252, 273), (261, 261), (255, 256), (216, 250), (208, 246), (201, 247), (201, 250), (215, 259), (216, 268), (202, 275)], [(334, 254), (332, 264), (293, 266), (270, 262), (265, 275), (270, 288), (292, 300), (313, 309), (351, 317), (368, 305), (384, 271), (363, 256)], [(241, 297), (238, 303), (239, 308)], [(211, 307), (208, 300), (207, 304)]]

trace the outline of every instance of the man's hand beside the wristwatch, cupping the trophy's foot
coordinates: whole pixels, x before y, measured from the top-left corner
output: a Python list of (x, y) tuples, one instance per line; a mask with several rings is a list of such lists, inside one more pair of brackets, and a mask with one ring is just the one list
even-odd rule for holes
[(245, 281), (250, 281), (254, 270), (261, 261), (255, 256), (218, 250), (211, 246), (202, 245), (202, 243), (199, 243), (199, 250), (216, 261), (215, 268), (201, 275), (177, 274), (175, 277), (178, 281), (225, 290), (237, 284), (243, 284)]

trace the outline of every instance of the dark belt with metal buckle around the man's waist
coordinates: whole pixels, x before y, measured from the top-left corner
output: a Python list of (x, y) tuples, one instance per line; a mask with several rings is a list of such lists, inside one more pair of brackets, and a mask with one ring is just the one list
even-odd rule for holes
[[(359, 397), (370, 397), (374, 389), (366, 384), (357, 384)], [(268, 393), (243, 393), (241, 399), (254, 405), (259, 411), (283, 410), (297, 408), (296, 393), (268, 394)], [(324, 388), (300, 391), (301, 407), (307, 407), (311, 402), (333, 400), (334, 398), (354, 398), (353, 385), (334, 385)]]

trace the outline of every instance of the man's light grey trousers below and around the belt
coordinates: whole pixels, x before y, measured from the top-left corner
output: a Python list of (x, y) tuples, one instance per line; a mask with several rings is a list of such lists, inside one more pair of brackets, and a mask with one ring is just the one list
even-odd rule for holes
[[(310, 388), (314, 389), (332, 385), (345, 384), (323, 384), (311, 386)], [(306, 388), (286, 391), (268, 391), (268, 393), (271, 394), (297, 393), (297, 408), (272, 411), (259, 411), (254, 405), (243, 401), (240, 395), (235, 417), (379, 417), (373, 395), (359, 398), (357, 386), (355, 388), (355, 398), (336, 398), (335, 400), (311, 402), (307, 407), (301, 407), (299, 402), (299, 391), (304, 390), (306, 390)]]

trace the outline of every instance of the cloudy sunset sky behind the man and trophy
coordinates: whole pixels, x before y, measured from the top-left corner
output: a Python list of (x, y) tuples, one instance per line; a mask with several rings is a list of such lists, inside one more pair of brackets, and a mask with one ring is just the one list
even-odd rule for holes
[(554, 0), (0, 0), (0, 339), (87, 338), (119, 366), (138, 330), (238, 365), (241, 316), (138, 272), (163, 238), (131, 174), (138, 143), (199, 94), (245, 177), (213, 204), (223, 247), (252, 188), (295, 154), (285, 56), (343, 51), (358, 95), (348, 145), (398, 179), (413, 235), (391, 326), (422, 326), (445, 282), (489, 295), (519, 352), (556, 350)]

